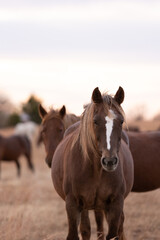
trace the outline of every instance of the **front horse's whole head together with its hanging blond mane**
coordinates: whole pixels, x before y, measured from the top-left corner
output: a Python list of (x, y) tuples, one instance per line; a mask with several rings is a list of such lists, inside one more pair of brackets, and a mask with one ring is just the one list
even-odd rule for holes
[[(104, 94), (98, 88), (92, 93), (92, 102), (86, 105), (82, 116), (80, 144), (85, 158), (89, 153), (101, 159), (101, 165), (106, 171), (117, 168), (118, 152), (121, 143), (124, 112), (121, 103), (124, 91), (119, 87), (115, 96)], [(89, 157), (91, 158), (91, 157)]]

